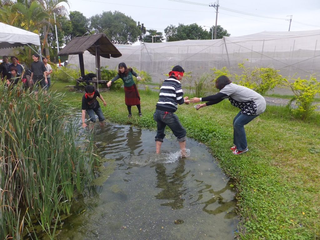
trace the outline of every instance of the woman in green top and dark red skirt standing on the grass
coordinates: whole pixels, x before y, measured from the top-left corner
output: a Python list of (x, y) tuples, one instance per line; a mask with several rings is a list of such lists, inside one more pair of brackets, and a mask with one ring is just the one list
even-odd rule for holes
[(140, 95), (132, 76), (135, 76), (138, 80), (141, 79), (132, 68), (127, 68), (127, 65), (121, 62), (119, 63), (118, 74), (107, 83), (107, 86), (110, 87), (111, 83), (121, 78), (124, 83), (124, 100), (129, 112), (128, 117), (132, 116), (131, 107), (134, 105), (137, 106), (139, 116), (141, 117)]

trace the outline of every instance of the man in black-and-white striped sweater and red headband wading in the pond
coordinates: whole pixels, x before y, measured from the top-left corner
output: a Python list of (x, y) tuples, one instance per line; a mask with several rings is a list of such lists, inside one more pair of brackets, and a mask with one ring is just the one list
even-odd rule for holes
[(189, 156), (186, 152), (186, 130), (180, 123), (177, 115), (178, 104), (189, 104), (188, 97), (183, 97), (180, 80), (184, 70), (177, 65), (169, 72), (169, 78), (165, 79), (160, 88), (159, 101), (153, 119), (157, 122), (156, 153), (160, 153), (160, 147), (164, 139), (165, 126), (168, 126), (179, 142), (181, 157)]

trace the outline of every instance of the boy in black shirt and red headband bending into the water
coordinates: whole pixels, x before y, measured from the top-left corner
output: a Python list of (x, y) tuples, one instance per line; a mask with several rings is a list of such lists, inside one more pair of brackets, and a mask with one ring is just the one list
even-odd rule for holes
[(82, 97), (82, 127), (87, 126), (87, 124), (85, 124), (85, 112), (86, 111), (90, 117), (90, 124), (89, 124), (90, 129), (93, 128), (94, 123), (96, 122), (96, 116), (94, 115), (94, 113), (96, 113), (98, 115), (100, 126), (103, 126), (106, 120), (102, 114), (100, 104), (97, 100), (97, 97), (103, 101), (103, 106), (107, 106), (106, 101), (100, 95), (98, 90), (94, 89), (93, 85), (85, 86), (84, 90), (86, 93)]

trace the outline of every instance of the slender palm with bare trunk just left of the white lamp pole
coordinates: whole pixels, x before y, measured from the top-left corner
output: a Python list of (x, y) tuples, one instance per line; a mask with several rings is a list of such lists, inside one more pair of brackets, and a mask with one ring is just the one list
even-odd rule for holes
[[(44, 11), (48, 14), (47, 24), (43, 25), (43, 33), (44, 33), (44, 45), (45, 45), (45, 53), (46, 55), (50, 55), (49, 53), (49, 43), (48, 43), (48, 32), (50, 26), (52, 26), (53, 13), (56, 15), (67, 15), (68, 10), (61, 3), (66, 3), (69, 6), (68, 0), (37, 0), (43, 7)], [(70, 7), (70, 6), (69, 6)], [(42, 46), (42, 48), (44, 47)]]

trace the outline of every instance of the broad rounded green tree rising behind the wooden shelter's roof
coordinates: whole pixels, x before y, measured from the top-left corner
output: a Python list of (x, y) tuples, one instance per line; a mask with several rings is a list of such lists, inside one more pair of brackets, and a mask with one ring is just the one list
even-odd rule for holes
[(133, 44), (141, 33), (136, 21), (118, 11), (96, 14), (90, 21), (91, 27), (98, 33), (105, 33), (113, 44)]

